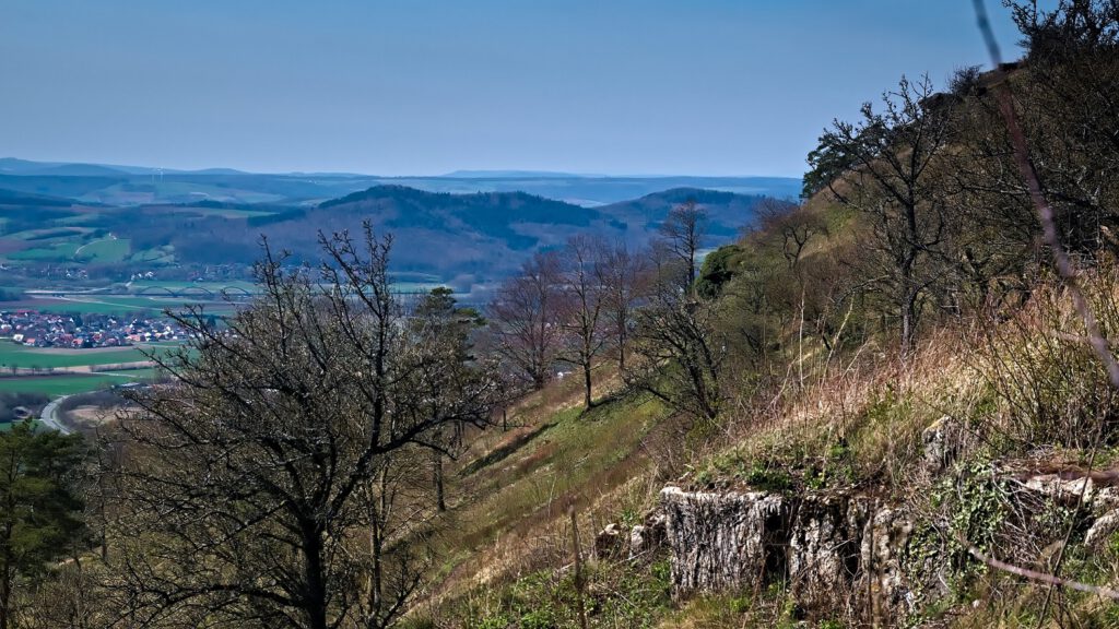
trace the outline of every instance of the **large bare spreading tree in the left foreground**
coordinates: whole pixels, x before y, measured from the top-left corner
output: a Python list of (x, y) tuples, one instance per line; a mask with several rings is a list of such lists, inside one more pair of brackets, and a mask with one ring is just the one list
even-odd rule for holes
[(109, 561), (130, 626), (380, 628), (420, 583), (424, 450), (489, 421), (492, 378), (402, 325), (391, 240), (321, 241), (318, 272), (266, 251), (227, 329), (178, 316), (177, 382), (121, 417)]

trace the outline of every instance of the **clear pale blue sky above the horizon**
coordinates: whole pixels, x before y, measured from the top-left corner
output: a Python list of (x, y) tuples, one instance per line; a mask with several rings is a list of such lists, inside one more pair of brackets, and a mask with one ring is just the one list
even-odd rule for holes
[(800, 176), (903, 73), (985, 62), (971, 0), (2, 0), (0, 157)]

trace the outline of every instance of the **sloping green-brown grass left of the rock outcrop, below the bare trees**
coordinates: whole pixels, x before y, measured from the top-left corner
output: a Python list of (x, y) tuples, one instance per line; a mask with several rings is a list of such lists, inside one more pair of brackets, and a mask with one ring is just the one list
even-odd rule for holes
[[(602, 394), (612, 395), (615, 374), (600, 374)], [(646, 396), (583, 412), (579, 384), (565, 378), (527, 396), (510, 409), (514, 428), (477, 435), (460, 458), (439, 541), (446, 561), (421, 612), (570, 563), (568, 508), (576, 509), (589, 545), (608, 523), (637, 519), (652, 506), (665, 473), (666, 431), (674, 432), (666, 428), (674, 425), (668, 412)]]

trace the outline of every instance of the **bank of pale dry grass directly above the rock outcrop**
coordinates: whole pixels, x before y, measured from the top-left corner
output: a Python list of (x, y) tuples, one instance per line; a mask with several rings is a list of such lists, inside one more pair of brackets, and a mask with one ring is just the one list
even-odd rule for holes
[[(927, 339), (903, 367), (867, 346), (803, 388), (754, 401), (727, 424), (720, 447), (698, 456), (690, 480), (736, 485), (768, 470), (793, 484), (904, 486), (921, 457), (921, 432), (943, 416), (967, 422), (981, 398), (967, 351), (950, 330)], [(846, 478), (819, 478), (829, 464), (849, 467)]]

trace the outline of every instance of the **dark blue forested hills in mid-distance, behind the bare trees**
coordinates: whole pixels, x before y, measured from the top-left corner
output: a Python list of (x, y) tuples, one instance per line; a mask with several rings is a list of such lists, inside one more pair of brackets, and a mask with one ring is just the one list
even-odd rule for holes
[[(313, 253), (318, 229), (355, 229), (369, 220), (396, 242), (394, 265), (453, 278), (499, 276), (530, 253), (593, 232), (610, 242), (647, 244), (676, 205), (694, 200), (711, 217), (713, 243), (730, 240), (752, 218), (763, 197), (677, 188), (632, 201), (582, 207), (525, 193), (451, 195), (376, 186), (313, 209), (247, 220), (250, 234), (267, 235), (297, 253)], [(433, 255), (438, 253), (438, 255)]]

